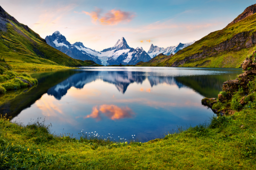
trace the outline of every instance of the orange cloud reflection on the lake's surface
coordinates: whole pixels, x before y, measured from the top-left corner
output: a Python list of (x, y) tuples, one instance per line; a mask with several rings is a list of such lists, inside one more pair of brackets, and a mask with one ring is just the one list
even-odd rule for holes
[(132, 118), (135, 116), (135, 113), (129, 107), (118, 107), (115, 105), (101, 105), (99, 108), (97, 106), (93, 107), (92, 113), (84, 117), (93, 118), (97, 121), (102, 119), (102, 116), (106, 116), (111, 120), (118, 120), (124, 118)]

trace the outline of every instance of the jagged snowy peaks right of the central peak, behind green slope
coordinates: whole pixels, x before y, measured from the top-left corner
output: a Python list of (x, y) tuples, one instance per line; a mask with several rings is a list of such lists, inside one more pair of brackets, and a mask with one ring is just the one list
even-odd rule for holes
[(182, 50), (185, 47), (190, 46), (191, 44), (194, 44), (195, 41), (191, 42), (191, 43), (179, 43), (177, 46), (171, 46), (171, 47), (167, 47), (167, 48), (161, 48), (161, 47), (157, 47), (154, 46), (153, 44), (151, 44), (150, 49), (148, 51), (148, 55), (150, 55), (151, 58), (155, 57), (156, 55), (159, 55), (161, 53), (163, 53), (164, 55), (171, 55), (171, 54), (175, 54), (177, 53), (177, 51)]

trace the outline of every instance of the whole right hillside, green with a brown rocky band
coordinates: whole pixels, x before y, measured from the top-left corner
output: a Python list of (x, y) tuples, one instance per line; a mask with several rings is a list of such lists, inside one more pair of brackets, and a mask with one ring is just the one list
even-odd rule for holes
[(228, 26), (178, 51), (159, 66), (238, 68), (256, 46), (256, 4)]

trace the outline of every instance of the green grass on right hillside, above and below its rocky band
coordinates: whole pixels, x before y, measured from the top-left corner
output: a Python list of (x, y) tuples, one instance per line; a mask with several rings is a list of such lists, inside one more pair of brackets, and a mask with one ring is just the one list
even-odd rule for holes
[[(208, 34), (194, 44), (178, 51), (170, 59), (163, 61), (158, 66), (171, 66), (174, 62), (203, 52), (203, 49), (213, 49), (220, 43), (230, 40), (239, 33), (243, 33), (245, 37), (249, 37), (256, 33), (256, 14), (246, 19)], [(249, 40), (247, 40), (249, 41)], [(216, 50), (205, 54), (204, 59), (190, 59), (179, 67), (219, 67), (219, 68), (238, 68), (248, 54), (251, 54), (253, 47), (236, 49), (237, 46), (230, 50), (217, 52)]]

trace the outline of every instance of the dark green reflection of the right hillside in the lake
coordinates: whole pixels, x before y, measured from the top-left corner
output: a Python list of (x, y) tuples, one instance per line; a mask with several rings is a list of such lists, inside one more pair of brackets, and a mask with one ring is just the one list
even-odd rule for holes
[(235, 79), (236, 75), (206, 75), (206, 76), (183, 76), (175, 77), (175, 80), (194, 89), (207, 98), (217, 98), (222, 90), (222, 84), (231, 79)]

